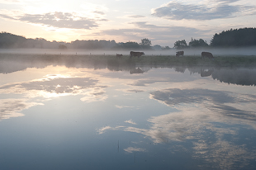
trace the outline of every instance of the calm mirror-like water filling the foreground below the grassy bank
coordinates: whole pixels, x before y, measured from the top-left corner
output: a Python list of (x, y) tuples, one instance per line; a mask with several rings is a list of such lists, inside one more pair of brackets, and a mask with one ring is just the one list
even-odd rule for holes
[(1, 170), (256, 168), (256, 68), (0, 60)]

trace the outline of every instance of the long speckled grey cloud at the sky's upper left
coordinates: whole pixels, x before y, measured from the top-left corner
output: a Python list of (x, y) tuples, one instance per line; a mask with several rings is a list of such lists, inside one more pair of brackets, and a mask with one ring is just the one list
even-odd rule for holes
[[(97, 12), (99, 13), (99, 12)], [(74, 12), (48, 12), (44, 14), (21, 14), (21, 15), (7, 15), (0, 14), (0, 17), (12, 19), (15, 21), (25, 21), (32, 24), (40, 24), (43, 26), (53, 26), (56, 28), (70, 28), (70, 29), (86, 29), (98, 27), (97, 21), (107, 21), (106, 19), (90, 19), (81, 17)]]

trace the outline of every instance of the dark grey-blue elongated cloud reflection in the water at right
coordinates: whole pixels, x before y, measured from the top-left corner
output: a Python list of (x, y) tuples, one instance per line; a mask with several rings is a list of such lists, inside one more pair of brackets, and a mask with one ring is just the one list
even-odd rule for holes
[[(159, 102), (164, 102), (167, 106), (180, 106), (182, 104), (201, 105), (211, 111), (223, 116), (232, 116), (238, 119), (256, 120), (255, 95), (244, 95), (235, 92), (214, 91), (202, 88), (193, 89), (166, 89), (164, 91), (155, 91), (150, 93), (150, 98)], [(246, 110), (236, 108), (235, 105), (228, 104), (242, 103), (250, 104)]]

